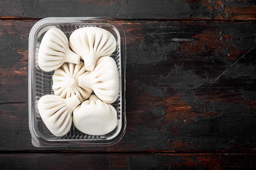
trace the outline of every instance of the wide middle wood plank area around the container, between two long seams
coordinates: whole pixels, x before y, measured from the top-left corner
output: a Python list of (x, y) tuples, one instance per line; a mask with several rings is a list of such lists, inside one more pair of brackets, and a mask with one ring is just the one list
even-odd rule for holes
[[(28, 34), (0, 21), (0, 150), (34, 148), (28, 128)], [(88, 151), (254, 152), (255, 22), (119, 21), (126, 32), (125, 136)]]

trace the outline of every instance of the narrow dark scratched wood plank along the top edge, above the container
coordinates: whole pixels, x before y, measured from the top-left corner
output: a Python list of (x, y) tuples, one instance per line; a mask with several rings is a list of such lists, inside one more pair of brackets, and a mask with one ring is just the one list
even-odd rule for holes
[(1, 0), (0, 18), (95, 17), (117, 19), (255, 20), (244, 0)]

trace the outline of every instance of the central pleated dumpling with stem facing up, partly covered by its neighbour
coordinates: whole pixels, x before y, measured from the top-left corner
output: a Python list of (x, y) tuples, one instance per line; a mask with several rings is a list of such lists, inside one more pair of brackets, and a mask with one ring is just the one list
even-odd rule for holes
[(83, 62), (80, 64), (64, 63), (54, 71), (52, 76), (54, 94), (62, 98), (76, 95), (80, 102), (83, 102), (91, 95), (92, 89), (78, 86), (78, 77), (89, 73), (90, 71), (86, 71)]

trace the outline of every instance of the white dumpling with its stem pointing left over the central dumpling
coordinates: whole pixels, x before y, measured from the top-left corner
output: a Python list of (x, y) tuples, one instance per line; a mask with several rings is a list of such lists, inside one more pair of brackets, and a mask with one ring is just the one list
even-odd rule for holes
[(78, 85), (91, 88), (103, 102), (115, 102), (119, 92), (119, 75), (115, 60), (108, 56), (100, 57), (89, 74), (78, 77)]

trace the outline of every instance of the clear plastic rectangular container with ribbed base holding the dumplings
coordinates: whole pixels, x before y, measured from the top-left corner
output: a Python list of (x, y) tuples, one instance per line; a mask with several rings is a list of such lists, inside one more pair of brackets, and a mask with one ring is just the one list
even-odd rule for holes
[[(111, 55), (117, 63), (119, 73), (119, 97), (112, 103), (117, 110), (118, 124), (115, 130), (106, 135), (87, 135), (80, 132), (72, 124), (67, 135), (56, 137), (43, 123), (37, 108), (38, 100), (43, 95), (54, 95), (52, 90), (52, 72), (42, 71), (37, 62), (40, 42), (50, 28), (61, 29), (67, 38), (81, 27), (97, 26), (110, 31), (117, 40), (117, 49)], [(32, 27), (29, 33), (29, 130), (32, 144), (36, 147), (67, 146), (110, 146), (117, 143), (126, 130), (125, 112), (125, 67), (126, 37), (121, 25), (112, 18), (76, 17), (76, 18), (44, 18)]]

